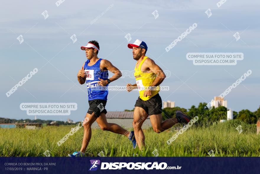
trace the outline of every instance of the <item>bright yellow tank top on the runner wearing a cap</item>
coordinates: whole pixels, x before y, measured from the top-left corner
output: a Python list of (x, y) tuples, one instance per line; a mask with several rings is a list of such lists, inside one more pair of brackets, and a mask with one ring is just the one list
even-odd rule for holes
[(139, 89), (140, 98), (144, 101), (149, 100), (150, 98), (152, 98), (153, 96), (158, 94), (158, 92), (160, 91), (159, 90), (160, 86), (157, 86), (157, 90), (151, 91), (152, 95), (144, 97), (144, 89), (147, 89), (149, 86), (151, 86), (152, 82), (155, 80), (155, 78), (157, 76), (153, 72), (152, 73), (144, 73), (144, 72), (141, 71), (141, 66), (144, 63), (144, 60), (146, 58), (147, 58), (147, 56), (144, 57), (144, 59), (142, 60), (142, 62), (138, 66), (138, 68), (136, 68), (137, 63), (134, 67), (134, 76), (135, 76), (137, 87)]

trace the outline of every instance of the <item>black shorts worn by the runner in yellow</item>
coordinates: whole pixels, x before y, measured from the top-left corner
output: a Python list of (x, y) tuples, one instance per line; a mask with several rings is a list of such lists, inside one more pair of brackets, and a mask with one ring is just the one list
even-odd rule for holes
[(143, 108), (148, 115), (153, 115), (153, 114), (161, 114), (163, 105), (162, 105), (162, 99), (158, 93), (146, 101), (138, 97), (134, 106)]

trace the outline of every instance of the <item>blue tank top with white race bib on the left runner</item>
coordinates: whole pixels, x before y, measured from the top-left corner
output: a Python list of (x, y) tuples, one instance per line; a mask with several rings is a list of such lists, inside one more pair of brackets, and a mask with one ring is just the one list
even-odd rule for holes
[[(102, 59), (99, 59), (94, 65), (88, 66), (87, 64), (90, 60), (87, 60), (84, 65), (86, 83), (87, 83), (87, 92), (88, 92), (88, 100), (108, 100), (108, 84), (106, 86), (100, 86), (98, 78), (107, 80), (108, 79), (108, 71), (100, 70), (100, 62)], [(100, 90), (102, 89), (102, 90)]]

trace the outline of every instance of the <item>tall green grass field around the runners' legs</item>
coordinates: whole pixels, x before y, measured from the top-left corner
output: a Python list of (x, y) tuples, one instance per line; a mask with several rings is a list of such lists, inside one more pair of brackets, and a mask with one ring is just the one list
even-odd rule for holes
[[(238, 133), (236, 127), (242, 126)], [(180, 126), (180, 125), (176, 125)], [(61, 146), (61, 140), (74, 126), (43, 127), (40, 130), (25, 128), (0, 128), (0, 156), (44, 156), (46, 150), (51, 156), (67, 156), (81, 148), (83, 127), (70, 136)], [(132, 143), (124, 136), (92, 130), (92, 138), (85, 156), (98, 156), (103, 151), (105, 156), (132, 157), (154, 156), (157, 149), (159, 157), (209, 156), (210, 150), (215, 156), (260, 156), (260, 135), (256, 135), (256, 125), (238, 120), (211, 125), (192, 125), (170, 145), (167, 140), (177, 131), (174, 127), (163, 133), (155, 133), (152, 128), (144, 130), (146, 151), (133, 149)]]

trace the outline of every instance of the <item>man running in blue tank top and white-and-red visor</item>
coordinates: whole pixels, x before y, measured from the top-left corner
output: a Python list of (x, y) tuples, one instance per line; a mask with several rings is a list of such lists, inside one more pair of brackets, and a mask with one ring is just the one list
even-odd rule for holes
[[(108, 84), (122, 76), (121, 71), (105, 59), (98, 58), (99, 44), (97, 41), (89, 41), (86, 46), (81, 47), (85, 50), (87, 61), (78, 72), (78, 81), (80, 84), (87, 83), (89, 109), (83, 122), (84, 135), (80, 151), (69, 154), (70, 157), (84, 156), (87, 145), (91, 138), (91, 125), (97, 121), (102, 130), (108, 130), (113, 133), (125, 135), (136, 148), (134, 131), (127, 131), (118, 124), (108, 123), (105, 117), (107, 113), (105, 105), (108, 96)], [(108, 79), (108, 71), (114, 75)]]

